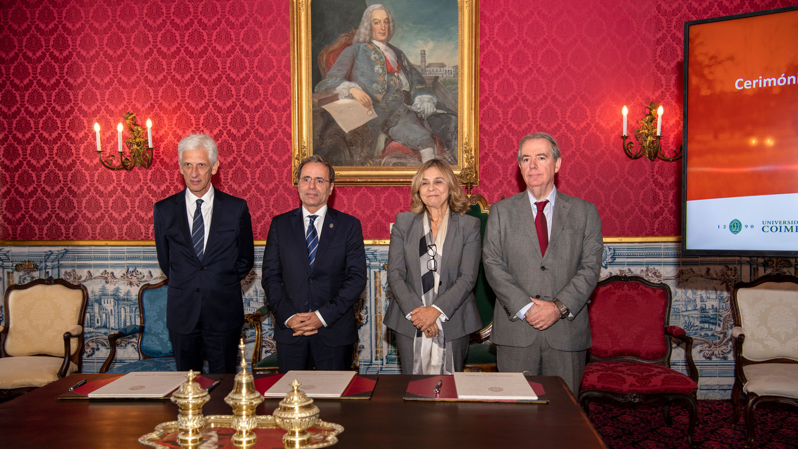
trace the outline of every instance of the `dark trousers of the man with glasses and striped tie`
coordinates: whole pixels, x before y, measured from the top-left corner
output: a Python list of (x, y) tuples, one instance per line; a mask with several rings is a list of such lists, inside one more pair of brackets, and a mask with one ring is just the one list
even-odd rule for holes
[(313, 368), (349, 371), (352, 369), (352, 345), (327, 346), (318, 334), (295, 336), (290, 343), (277, 342), (277, 364), (280, 373)]

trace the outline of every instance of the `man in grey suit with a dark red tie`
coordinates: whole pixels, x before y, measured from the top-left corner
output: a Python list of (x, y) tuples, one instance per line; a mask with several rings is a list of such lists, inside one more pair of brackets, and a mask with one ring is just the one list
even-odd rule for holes
[(559, 375), (577, 395), (591, 347), (586, 305), (601, 270), (599, 212), (555, 188), (554, 137), (523, 137), (518, 164), (527, 189), (492, 205), (482, 250), (500, 306), (491, 336), (498, 368)]

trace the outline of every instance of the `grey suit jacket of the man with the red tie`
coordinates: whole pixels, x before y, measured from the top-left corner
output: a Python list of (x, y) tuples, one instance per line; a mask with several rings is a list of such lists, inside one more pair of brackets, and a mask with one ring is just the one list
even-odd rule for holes
[[(557, 192), (546, 256), (540, 255), (535, 219), (524, 190), (491, 206), (482, 250), (485, 275), (496, 292), (491, 341), (523, 347), (539, 338), (559, 351), (591, 347), (588, 298), (601, 271), (603, 242), (595, 205)], [(545, 331), (516, 313), (533, 300), (559, 299), (575, 316)]]

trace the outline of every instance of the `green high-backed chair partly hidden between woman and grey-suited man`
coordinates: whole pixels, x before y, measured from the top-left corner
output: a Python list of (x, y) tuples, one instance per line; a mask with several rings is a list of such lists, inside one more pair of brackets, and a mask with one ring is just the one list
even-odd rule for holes
[[(481, 195), (470, 195), (468, 201), (471, 209), (466, 213), (480, 219), (480, 237), (484, 240), (485, 225), (488, 224), (490, 205)], [(476, 309), (480, 312), (482, 328), (473, 332), (468, 342), (468, 354), (465, 356), (465, 372), (496, 372), (496, 346), (486, 343), (493, 327), (493, 306), (496, 304), (496, 293), (493, 292), (485, 278), (485, 269), (480, 262), (480, 272), (474, 285)]]

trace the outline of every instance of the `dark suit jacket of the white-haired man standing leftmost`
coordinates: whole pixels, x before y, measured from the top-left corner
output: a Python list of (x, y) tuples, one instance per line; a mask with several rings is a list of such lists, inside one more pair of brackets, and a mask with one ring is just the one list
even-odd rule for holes
[(216, 332), (241, 327), (240, 281), (255, 263), (247, 201), (215, 189), (202, 260), (197, 259), (188, 230), (185, 190), (158, 201), (153, 217), (158, 264), (169, 278), (166, 327), (188, 334), (200, 311)]

